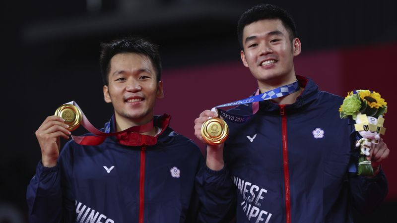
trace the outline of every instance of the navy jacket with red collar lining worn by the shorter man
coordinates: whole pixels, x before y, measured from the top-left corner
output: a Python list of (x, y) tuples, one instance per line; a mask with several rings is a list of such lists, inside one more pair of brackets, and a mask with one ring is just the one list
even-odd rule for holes
[[(226, 169), (205, 167), (199, 148), (155, 117), (152, 146), (108, 137), (98, 146), (66, 143), (56, 167), (41, 162), (27, 189), (30, 223), (221, 222), (234, 194)], [(105, 131), (114, 131), (112, 119)]]

